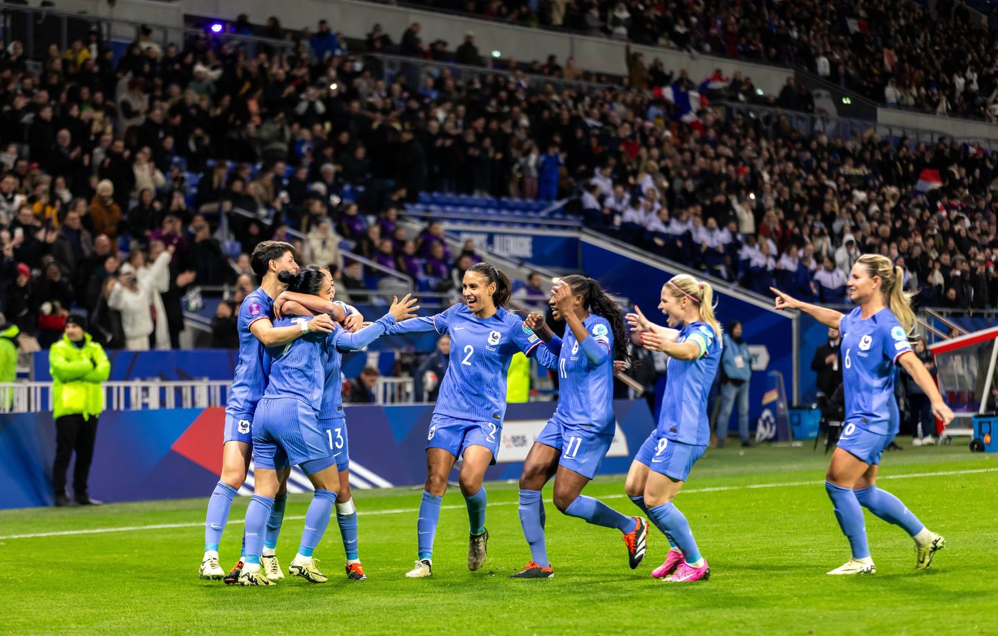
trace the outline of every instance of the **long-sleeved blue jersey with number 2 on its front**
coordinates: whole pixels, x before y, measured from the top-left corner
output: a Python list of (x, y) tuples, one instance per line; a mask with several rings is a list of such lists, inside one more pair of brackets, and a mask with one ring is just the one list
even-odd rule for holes
[(540, 338), (502, 308), (489, 318), (477, 318), (466, 305), (454, 305), (432, 318), (402, 320), (388, 329), (388, 333), (415, 331), (447, 333), (451, 338), (450, 363), (433, 412), (501, 424), (510, 359), (518, 351), (533, 353)]

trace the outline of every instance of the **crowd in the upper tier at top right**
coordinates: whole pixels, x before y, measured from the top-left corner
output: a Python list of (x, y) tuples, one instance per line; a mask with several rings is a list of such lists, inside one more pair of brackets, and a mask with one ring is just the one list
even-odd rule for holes
[[(879, 104), (998, 120), (998, 10), (959, 0), (917, 2), (644, 2), (641, 0), (415, 0), (489, 20), (565, 29), (805, 69)], [(471, 63), (471, 62), (468, 62)], [(563, 71), (565, 77), (574, 73)], [(783, 102), (783, 100), (781, 100)], [(802, 105), (782, 103), (803, 110)]]

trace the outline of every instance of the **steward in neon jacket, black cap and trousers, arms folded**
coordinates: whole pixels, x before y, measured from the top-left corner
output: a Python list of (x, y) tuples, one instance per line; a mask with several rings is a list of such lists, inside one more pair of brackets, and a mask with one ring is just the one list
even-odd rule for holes
[(49, 349), (49, 373), (52, 375), (52, 416), (56, 420), (56, 461), (52, 469), (52, 487), (57, 506), (70, 505), (66, 496), (66, 470), (76, 451), (73, 495), (81, 505), (95, 505), (87, 491), (90, 464), (97, 440), (97, 417), (104, 410), (102, 382), (111, 373), (111, 362), (104, 347), (86, 331), (86, 318), (66, 318), (61, 340)]

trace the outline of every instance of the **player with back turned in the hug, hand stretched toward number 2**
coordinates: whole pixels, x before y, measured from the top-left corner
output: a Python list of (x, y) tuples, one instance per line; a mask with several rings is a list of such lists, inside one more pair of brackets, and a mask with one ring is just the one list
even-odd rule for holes
[[(285, 273), (282, 279), (293, 292), (312, 294), (325, 301), (332, 299), (332, 277), (321, 268), (309, 266), (296, 275)], [(328, 358), (334, 349), (355, 349), (370, 344), (396, 320), (411, 318), (415, 299), (408, 295), (394, 299), (388, 314), (355, 333), (336, 329), (332, 333), (305, 335), (283, 346), (268, 347), (273, 358), (269, 383), (256, 405), (252, 423), (254, 472), (253, 496), (247, 508), (246, 563), (240, 585), (273, 585), (260, 568), (263, 535), (267, 518), (277, 493), (278, 471), (294, 463), (308, 476), (315, 493), (305, 513), (305, 528), (298, 553), (288, 572), (313, 583), (328, 580), (312, 558), (315, 546), (329, 523), (336, 501), (339, 474), (336, 466), (337, 434), (331, 423), (319, 424), (323, 403)], [(315, 318), (312, 318), (315, 319)], [(282, 318), (305, 331), (307, 318)], [(338, 382), (338, 377), (336, 378)]]

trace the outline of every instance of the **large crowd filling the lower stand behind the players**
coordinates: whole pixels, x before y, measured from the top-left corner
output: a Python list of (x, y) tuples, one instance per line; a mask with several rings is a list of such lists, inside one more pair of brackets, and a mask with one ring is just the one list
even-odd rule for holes
[[(420, 45), (417, 26), (403, 47)], [(323, 21), (286, 55), (208, 36), (161, 48), (144, 33), (116, 60), (92, 32), (50, 47), (34, 75), (8, 46), (6, 317), (47, 344), (77, 307), (109, 347), (176, 347), (185, 295), (229, 284), (215, 331), (231, 344), (234, 304), (254, 286), (247, 254), (269, 238), (330, 264), (342, 296), (387, 270), (446, 290), (477, 256), (473, 245), (451, 254), (439, 224), (415, 240), (399, 227), (423, 191), (581, 191), (587, 225), (759, 292), (775, 283), (841, 300), (852, 261), (876, 252), (905, 265), (924, 305), (998, 305), (994, 159), (975, 147), (902, 139), (895, 150), (684, 109), (676, 98), (697, 82), (658, 61), (632, 58), (654, 91), (574, 90), (519, 72), (386, 80), (376, 59), (344, 47)], [(941, 184), (922, 187), (941, 187), (923, 195), (926, 169)], [(344, 259), (344, 246), (383, 270)]]

